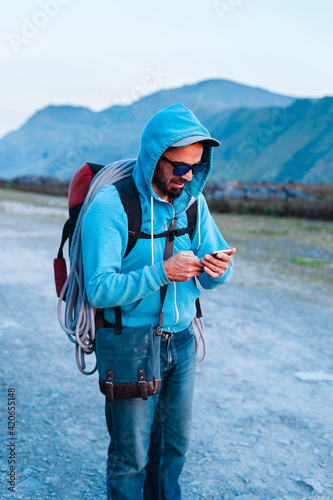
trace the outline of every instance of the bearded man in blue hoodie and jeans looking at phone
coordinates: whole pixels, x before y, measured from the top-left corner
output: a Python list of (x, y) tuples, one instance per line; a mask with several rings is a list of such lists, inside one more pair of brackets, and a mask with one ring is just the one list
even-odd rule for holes
[[(123, 326), (157, 325), (160, 288), (168, 284), (161, 340), (162, 387), (147, 401), (106, 401), (111, 437), (107, 466), (109, 499), (181, 498), (178, 483), (189, 446), (195, 376), (192, 319), (199, 289), (213, 289), (232, 275), (232, 257), (210, 254), (227, 248), (201, 191), (219, 142), (181, 104), (157, 113), (146, 126), (133, 178), (142, 207), (141, 231), (162, 233), (177, 220), (187, 227), (186, 210), (197, 200), (192, 241), (176, 237), (163, 262), (165, 238), (140, 239), (123, 259), (127, 216), (114, 186), (103, 188), (82, 228), (85, 287), (89, 302), (105, 309), (114, 324), (121, 306)], [(232, 250), (231, 254), (234, 253)]]

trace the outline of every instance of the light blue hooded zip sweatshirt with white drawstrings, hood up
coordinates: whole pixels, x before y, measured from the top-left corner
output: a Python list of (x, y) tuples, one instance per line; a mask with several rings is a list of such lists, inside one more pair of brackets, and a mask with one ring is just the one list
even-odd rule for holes
[[(212, 147), (204, 144), (208, 166), (193, 176), (173, 203), (162, 200), (152, 187), (156, 164), (166, 149), (190, 136), (210, 138), (209, 132), (182, 104), (158, 112), (147, 124), (133, 170), (142, 207), (141, 231), (162, 233), (176, 217), (177, 228), (187, 227), (186, 210), (198, 202), (197, 225), (192, 242), (188, 234), (175, 238), (174, 253), (192, 250), (201, 258), (227, 248), (201, 194), (212, 168)], [(87, 210), (82, 226), (84, 280), (93, 307), (105, 309), (105, 318), (114, 323), (114, 308), (121, 306), (123, 326), (157, 326), (161, 309), (160, 287), (169, 284), (163, 306), (163, 329), (181, 331), (195, 316), (195, 300), (200, 295), (193, 280), (170, 282), (163, 267), (165, 238), (139, 239), (123, 259), (127, 247), (128, 224), (124, 207), (114, 186), (101, 189)], [(203, 288), (212, 289), (232, 276), (233, 262), (219, 278), (205, 272), (199, 276)]]

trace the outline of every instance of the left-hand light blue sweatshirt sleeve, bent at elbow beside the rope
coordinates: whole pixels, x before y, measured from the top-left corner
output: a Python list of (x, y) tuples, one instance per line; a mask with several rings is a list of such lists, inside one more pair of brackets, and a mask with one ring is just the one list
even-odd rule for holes
[(84, 283), (93, 307), (130, 304), (169, 283), (162, 262), (121, 272), (127, 239), (126, 212), (116, 188), (107, 186), (88, 208), (81, 232)]

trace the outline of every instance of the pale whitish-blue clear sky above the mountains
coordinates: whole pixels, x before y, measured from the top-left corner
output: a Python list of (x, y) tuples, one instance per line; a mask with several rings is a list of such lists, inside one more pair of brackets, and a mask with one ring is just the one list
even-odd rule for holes
[(210, 78), (333, 95), (331, 0), (15, 0), (0, 14), (0, 137), (50, 104), (99, 111)]

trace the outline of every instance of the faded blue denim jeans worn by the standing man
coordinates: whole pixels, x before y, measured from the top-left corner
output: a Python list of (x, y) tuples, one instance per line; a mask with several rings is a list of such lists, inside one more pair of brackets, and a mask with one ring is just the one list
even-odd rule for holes
[(108, 499), (179, 500), (179, 476), (189, 447), (195, 379), (192, 325), (161, 338), (162, 387), (142, 399), (106, 401), (111, 437)]

